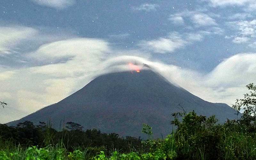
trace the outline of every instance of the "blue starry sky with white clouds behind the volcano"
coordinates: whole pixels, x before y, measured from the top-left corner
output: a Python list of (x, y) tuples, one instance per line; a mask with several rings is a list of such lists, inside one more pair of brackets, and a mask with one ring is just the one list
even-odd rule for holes
[(255, 0), (1, 0), (0, 123), (148, 64), (210, 102), (256, 83)]

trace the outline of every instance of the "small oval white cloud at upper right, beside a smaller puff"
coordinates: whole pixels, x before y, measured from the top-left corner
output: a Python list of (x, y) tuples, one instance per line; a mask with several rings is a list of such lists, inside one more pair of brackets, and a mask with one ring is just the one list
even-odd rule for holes
[(191, 17), (191, 20), (193, 20), (194, 23), (196, 23), (198, 26), (212, 26), (217, 25), (215, 20), (204, 13), (198, 13)]

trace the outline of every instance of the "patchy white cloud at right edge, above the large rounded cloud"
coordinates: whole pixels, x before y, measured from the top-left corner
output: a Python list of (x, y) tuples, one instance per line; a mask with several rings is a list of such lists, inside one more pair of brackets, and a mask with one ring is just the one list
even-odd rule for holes
[(231, 21), (227, 25), (237, 32), (231, 36), (234, 37), (234, 43), (245, 43), (256, 37), (256, 20)]

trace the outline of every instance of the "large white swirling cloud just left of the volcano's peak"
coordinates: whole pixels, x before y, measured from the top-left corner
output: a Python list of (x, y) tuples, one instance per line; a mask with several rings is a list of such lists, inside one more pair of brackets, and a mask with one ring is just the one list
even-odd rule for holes
[[(31, 72), (48, 74), (54, 77), (76, 77), (91, 72), (105, 58), (109, 51), (108, 43), (93, 38), (74, 38), (44, 44), (30, 57), (46, 61), (47, 65), (33, 67)], [(64, 62), (60, 61), (67, 59)], [(88, 70), (88, 68), (91, 68)], [(94, 68), (97, 71), (96, 68)]]

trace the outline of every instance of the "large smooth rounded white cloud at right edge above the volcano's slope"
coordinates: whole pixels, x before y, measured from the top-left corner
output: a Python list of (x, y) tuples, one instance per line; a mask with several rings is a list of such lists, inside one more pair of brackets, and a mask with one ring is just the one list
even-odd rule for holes
[(256, 54), (237, 54), (217, 67), (207, 77), (211, 86), (237, 87), (256, 82)]

